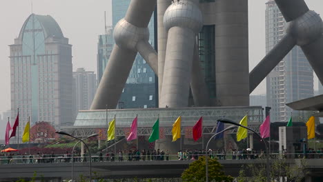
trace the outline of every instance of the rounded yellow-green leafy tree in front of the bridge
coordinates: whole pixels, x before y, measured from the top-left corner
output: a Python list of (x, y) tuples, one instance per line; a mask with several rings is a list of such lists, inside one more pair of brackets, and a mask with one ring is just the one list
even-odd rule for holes
[[(182, 181), (206, 181), (205, 157), (200, 156), (197, 161), (190, 163), (190, 166), (182, 173)], [(208, 180), (231, 182), (233, 177), (226, 176), (222, 171), (222, 165), (216, 159), (208, 158)]]

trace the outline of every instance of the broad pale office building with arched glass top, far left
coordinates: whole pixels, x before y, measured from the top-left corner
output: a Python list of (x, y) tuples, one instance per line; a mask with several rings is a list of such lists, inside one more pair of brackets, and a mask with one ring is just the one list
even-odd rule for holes
[(72, 125), (72, 45), (49, 15), (31, 14), (10, 46), (11, 120)]

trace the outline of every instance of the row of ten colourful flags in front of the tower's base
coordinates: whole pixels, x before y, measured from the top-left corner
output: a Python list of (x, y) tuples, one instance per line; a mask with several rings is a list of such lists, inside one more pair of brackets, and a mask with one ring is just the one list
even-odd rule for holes
[[(181, 138), (181, 121), (182, 121), (182, 117), (179, 116), (176, 119), (176, 121), (173, 123), (172, 141), (177, 141), (177, 139)], [(137, 139), (137, 122), (138, 122), (138, 117), (135, 117), (135, 119), (133, 120), (133, 123), (131, 123), (130, 134), (127, 137), (127, 141), (132, 141)], [(194, 141), (197, 141), (202, 137), (202, 127), (203, 127), (202, 122), (203, 122), (203, 117), (200, 117), (199, 120), (193, 126), (192, 132), (193, 132)], [(242, 120), (239, 122), (239, 124), (248, 127), (248, 115), (244, 116)], [(292, 125), (293, 125), (292, 119), (289, 119), (286, 126), (292, 126)], [(315, 117), (310, 117), (309, 120), (306, 122), (306, 126), (307, 126), (307, 134), (308, 134), (307, 138), (308, 139), (315, 138)], [(148, 139), (150, 143), (159, 139), (159, 117), (157, 121), (155, 121), (155, 124), (153, 125), (152, 129), (153, 130)], [(215, 133), (221, 132), (223, 130), (224, 130), (224, 123), (218, 121)], [(109, 123), (107, 136), (108, 136), (107, 137), (108, 141), (115, 139), (115, 119), (113, 119)], [(223, 136), (224, 134), (222, 132), (221, 134), (218, 134), (217, 136), (215, 136), (215, 139), (223, 138)], [(247, 136), (248, 136), (248, 130), (246, 128), (239, 127), (237, 130), (237, 141), (246, 139)], [(262, 136), (263, 139), (269, 138), (271, 136), (271, 119), (269, 115), (266, 117), (262, 125), (260, 125), (260, 136)]]

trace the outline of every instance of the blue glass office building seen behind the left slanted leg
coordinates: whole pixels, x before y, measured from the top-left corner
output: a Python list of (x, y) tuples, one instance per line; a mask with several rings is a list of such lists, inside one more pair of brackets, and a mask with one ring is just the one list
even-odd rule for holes
[[(112, 27), (124, 18), (130, 0), (112, 0)], [(144, 5), (143, 5), (144, 6)], [(155, 47), (154, 15), (148, 25), (149, 43)], [(117, 108), (157, 108), (157, 77), (148, 63), (137, 54)]]

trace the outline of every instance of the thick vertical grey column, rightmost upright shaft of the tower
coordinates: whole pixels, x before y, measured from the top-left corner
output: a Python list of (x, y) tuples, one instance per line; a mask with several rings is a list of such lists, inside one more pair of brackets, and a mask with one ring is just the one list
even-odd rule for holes
[(214, 13), (218, 105), (249, 105), (248, 0), (217, 0)]

